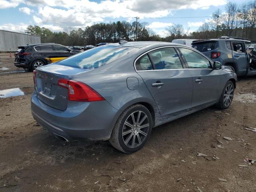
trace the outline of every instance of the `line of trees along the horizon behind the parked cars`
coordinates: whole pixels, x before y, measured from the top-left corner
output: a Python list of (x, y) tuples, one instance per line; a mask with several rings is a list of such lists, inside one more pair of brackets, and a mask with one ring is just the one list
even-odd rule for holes
[(96, 45), (100, 42), (127, 41), (165, 41), (171, 42), (177, 38), (209, 39), (220, 36), (235, 36), (256, 41), (256, 0), (244, 4), (228, 2), (224, 12), (220, 9), (212, 13), (197, 31), (184, 30), (181, 24), (173, 24), (166, 28), (166, 37), (160, 37), (148, 28), (147, 22), (117, 21), (98, 23), (85, 28), (67, 32), (52, 32), (40, 26), (28, 26), (27, 34), (41, 36), (41, 42), (54, 42), (66, 46)]

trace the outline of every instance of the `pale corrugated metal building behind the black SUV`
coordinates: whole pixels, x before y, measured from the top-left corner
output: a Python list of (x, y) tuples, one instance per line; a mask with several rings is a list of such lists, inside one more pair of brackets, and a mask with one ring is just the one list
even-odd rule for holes
[(18, 46), (41, 43), (41, 37), (11, 31), (0, 30), (0, 52), (18, 50)]

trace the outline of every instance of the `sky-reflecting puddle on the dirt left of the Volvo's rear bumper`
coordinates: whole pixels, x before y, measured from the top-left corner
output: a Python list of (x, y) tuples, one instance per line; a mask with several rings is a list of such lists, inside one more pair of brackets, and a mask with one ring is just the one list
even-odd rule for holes
[(0, 90), (0, 98), (14, 97), (30, 94), (34, 91), (34, 87), (22, 87)]

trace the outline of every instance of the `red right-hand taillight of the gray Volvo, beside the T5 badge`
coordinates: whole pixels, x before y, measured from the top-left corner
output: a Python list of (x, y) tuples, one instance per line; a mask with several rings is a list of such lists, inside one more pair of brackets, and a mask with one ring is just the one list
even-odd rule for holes
[(90, 86), (74, 80), (59, 79), (58, 86), (68, 89), (68, 100), (80, 102), (93, 102), (105, 100)]

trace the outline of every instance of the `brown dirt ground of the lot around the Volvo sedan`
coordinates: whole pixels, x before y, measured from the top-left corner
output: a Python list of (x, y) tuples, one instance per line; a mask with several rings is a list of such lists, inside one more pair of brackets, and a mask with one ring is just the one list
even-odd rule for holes
[[(16, 72), (13, 61), (0, 55), (0, 90), (33, 86), (32, 72)], [(244, 161), (256, 160), (256, 132), (245, 130), (256, 128), (256, 77), (237, 82), (228, 110), (154, 128), (134, 154), (108, 141), (57, 140), (32, 118), (30, 97), (0, 98), (0, 192), (256, 191), (256, 164)]]

